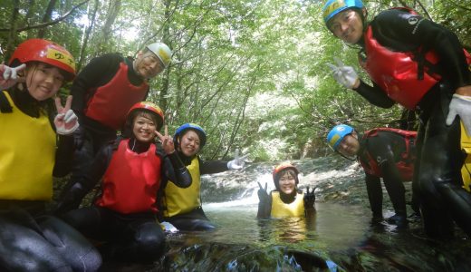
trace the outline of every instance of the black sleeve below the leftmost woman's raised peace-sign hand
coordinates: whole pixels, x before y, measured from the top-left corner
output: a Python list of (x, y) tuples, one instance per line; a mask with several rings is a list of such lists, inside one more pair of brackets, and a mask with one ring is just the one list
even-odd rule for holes
[(73, 159), (73, 137), (71, 136), (58, 136), (57, 149), (55, 150), (55, 163), (53, 169), (53, 176), (62, 178), (67, 175), (72, 169)]

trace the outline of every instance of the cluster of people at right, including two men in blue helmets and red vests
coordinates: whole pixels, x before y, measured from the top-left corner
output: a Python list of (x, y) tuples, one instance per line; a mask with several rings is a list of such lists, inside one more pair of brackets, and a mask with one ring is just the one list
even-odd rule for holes
[(371, 21), (367, 16), (360, 0), (329, 0), (323, 5), (327, 28), (345, 44), (359, 48), (360, 66), (372, 85), (340, 60), (329, 63), (333, 77), (376, 106), (399, 103), (417, 112), (418, 131), (386, 128), (360, 133), (340, 124), (327, 141), (342, 156), (360, 160), (374, 220), (382, 220), (382, 177), (396, 212), (389, 221), (407, 223), (402, 181), (412, 180), (412, 208), (421, 215), (428, 236), (450, 237), (454, 223), (471, 236), (466, 170), (471, 57), (456, 34), (409, 8), (391, 8)]

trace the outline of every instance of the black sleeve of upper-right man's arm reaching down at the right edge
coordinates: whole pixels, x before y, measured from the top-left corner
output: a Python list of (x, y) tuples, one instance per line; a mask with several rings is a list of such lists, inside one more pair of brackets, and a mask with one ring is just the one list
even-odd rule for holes
[(387, 47), (406, 51), (422, 46), (436, 52), (440, 73), (446, 75), (454, 90), (471, 84), (463, 46), (457, 35), (443, 25), (408, 12), (388, 10), (375, 18), (373, 26), (374, 36)]

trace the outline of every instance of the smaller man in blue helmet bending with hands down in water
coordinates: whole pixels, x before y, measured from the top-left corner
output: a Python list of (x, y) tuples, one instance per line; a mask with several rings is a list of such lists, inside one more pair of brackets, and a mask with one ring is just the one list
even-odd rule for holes
[(327, 142), (333, 151), (347, 159), (359, 160), (365, 171), (373, 222), (383, 219), (382, 178), (395, 211), (387, 221), (399, 227), (408, 223), (406, 189), (402, 182), (412, 180), (416, 136), (415, 131), (391, 128), (377, 128), (360, 135), (346, 124), (336, 125), (327, 135)]

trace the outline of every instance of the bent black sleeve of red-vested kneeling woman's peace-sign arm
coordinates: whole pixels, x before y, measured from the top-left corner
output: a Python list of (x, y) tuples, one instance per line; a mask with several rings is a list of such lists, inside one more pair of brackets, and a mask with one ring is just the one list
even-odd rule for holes
[(178, 187), (187, 188), (191, 185), (191, 175), (177, 152), (164, 157), (163, 175), (165, 180), (171, 180)]

